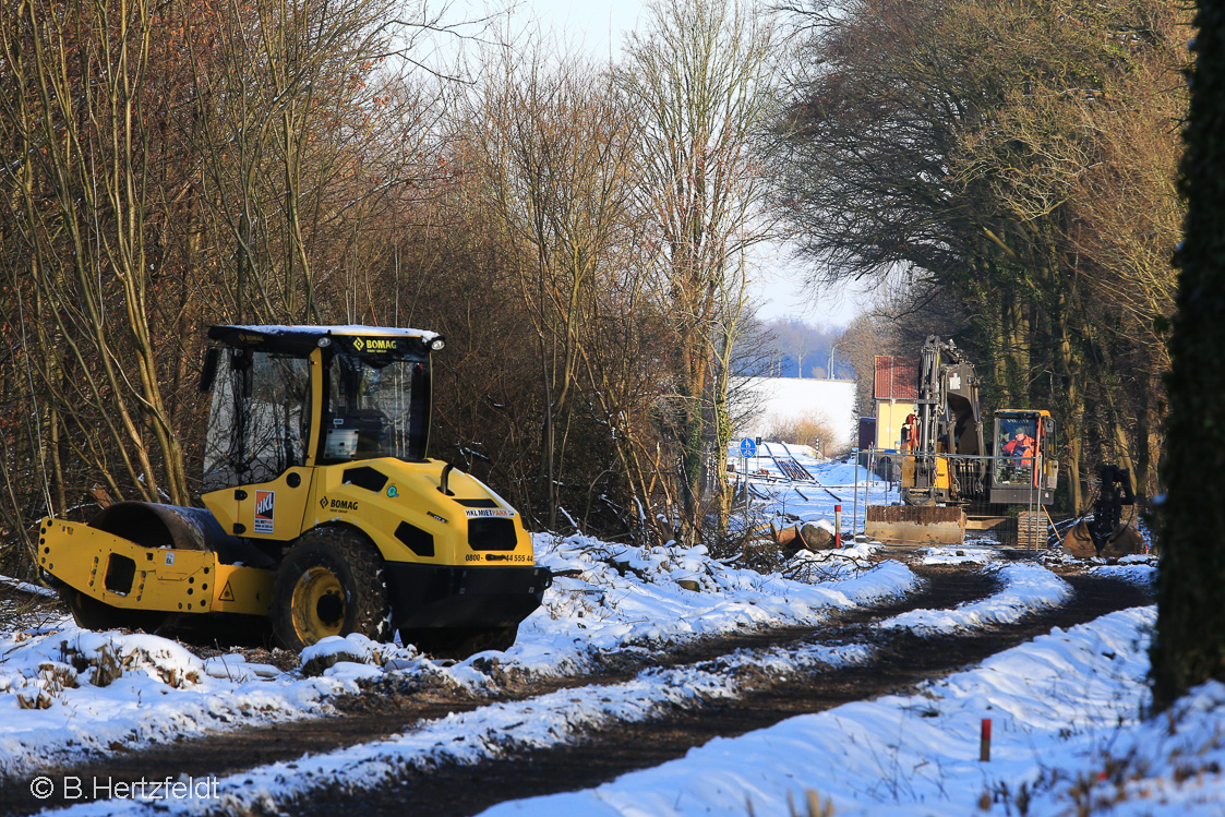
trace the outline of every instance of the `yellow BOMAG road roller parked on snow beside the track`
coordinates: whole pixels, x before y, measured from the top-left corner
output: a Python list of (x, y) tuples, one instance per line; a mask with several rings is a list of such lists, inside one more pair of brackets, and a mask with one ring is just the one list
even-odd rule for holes
[(203, 508), (45, 518), (38, 560), (77, 622), (271, 631), (301, 649), (396, 631), (440, 657), (506, 649), (540, 605), (521, 516), (426, 457), (443, 339), (368, 326), (214, 326)]

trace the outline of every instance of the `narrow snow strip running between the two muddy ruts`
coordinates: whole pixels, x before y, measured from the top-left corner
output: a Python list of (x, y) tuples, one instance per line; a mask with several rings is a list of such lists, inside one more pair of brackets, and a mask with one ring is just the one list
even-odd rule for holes
[[(897, 562), (886, 561), (858, 574), (856, 571), (848, 568), (846, 577), (835, 584), (844, 593), (875, 588), (870, 594), (878, 597), (881, 592), (888, 589), (888, 584), (882, 584), (882, 581), (887, 582), (889, 573), (899, 567)], [(649, 565), (644, 562), (638, 568), (648, 571)], [(1066, 592), (1063, 582), (1045, 568), (1014, 565), (1005, 566), (1000, 572), (1001, 590), (981, 603), (982, 609), (1008, 610), (1019, 615), (1027, 606), (1028, 609), (1047, 606), (1052, 598)], [(666, 577), (669, 572), (666, 565), (662, 565), (662, 570), (647, 574)], [(987, 623), (987, 616), (974, 612), (969, 606), (965, 610), (968, 612), (962, 619), (962, 628), (975, 630)], [(933, 614), (933, 611), (921, 612)], [(956, 611), (952, 611), (952, 615), (956, 616)], [(880, 626), (907, 626), (904, 619), (905, 616), (899, 616)], [(653, 626), (658, 625), (658, 620), (653, 622)], [(916, 626), (926, 628), (929, 623), (922, 621)], [(647, 637), (654, 638), (655, 633), (648, 632)], [(744, 695), (747, 688), (742, 674), (766, 672), (786, 677), (821, 666), (862, 661), (870, 658), (872, 648), (866, 644), (740, 650), (717, 661), (643, 670), (632, 681), (624, 683), (590, 685), (528, 701), (491, 703), (473, 712), (429, 721), (386, 740), (304, 757), (292, 763), (273, 763), (223, 778), (217, 784), (216, 797), (208, 805), (243, 813), (261, 805), (284, 804), (287, 799), (309, 795), (312, 790), (336, 790), (337, 786), (347, 790), (374, 788), (397, 779), (407, 769), (425, 770), (435, 763), (446, 761), (475, 763), (500, 757), (510, 751), (555, 746), (576, 739), (584, 730), (606, 726), (614, 721), (641, 721), (665, 712), (696, 708), (733, 698)], [(514, 650), (511, 650), (508, 658), (516, 660)], [(453, 668), (463, 670), (457, 677), (473, 682), (472, 674), (478, 674), (478, 670), (472, 664), (473, 661), (468, 661)], [(551, 663), (546, 665), (555, 666)], [(744, 802), (742, 799), (737, 801), (734, 810), (744, 808)], [(162, 804), (162, 808), (169, 808), (172, 813), (192, 813), (201, 807), (201, 801)], [(535, 813), (533, 801), (516, 807), (526, 808), (517, 813)], [(566, 804), (559, 808), (557, 813), (587, 813), (586, 807), (575, 811)], [(140, 804), (105, 802), (82, 805), (72, 808), (71, 813), (135, 815), (143, 813), (142, 810), (143, 806)], [(648, 808), (633, 813), (655, 812)]]

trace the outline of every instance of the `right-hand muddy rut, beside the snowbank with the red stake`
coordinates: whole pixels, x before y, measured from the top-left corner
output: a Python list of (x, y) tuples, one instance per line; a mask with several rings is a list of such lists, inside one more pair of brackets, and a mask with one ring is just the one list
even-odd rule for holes
[(871, 616), (850, 623), (838, 634), (839, 641), (875, 644), (877, 654), (866, 664), (823, 670), (809, 677), (793, 675), (785, 682), (757, 688), (718, 707), (654, 721), (615, 724), (586, 735), (582, 741), (512, 758), (408, 772), (369, 791), (315, 793), (309, 800), (293, 804), (292, 811), (305, 816), (333, 815), (343, 804), (359, 808), (364, 817), (375, 817), (403, 813), (404, 804), (417, 804), (414, 813), (459, 817), (506, 800), (586, 789), (684, 757), (690, 748), (713, 737), (733, 737), (794, 715), (908, 692), (920, 682), (979, 664), (1054, 627), (1068, 628), (1115, 610), (1152, 604), (1147, 590), (1123, 581), (1093, 576), (1063, 578), (1074, 592), (1068, 604), (1036, 612), (1016, 625), (980, 633), (924, 637), (905, 630), (872, 630), (872, 621), (878, 619)]

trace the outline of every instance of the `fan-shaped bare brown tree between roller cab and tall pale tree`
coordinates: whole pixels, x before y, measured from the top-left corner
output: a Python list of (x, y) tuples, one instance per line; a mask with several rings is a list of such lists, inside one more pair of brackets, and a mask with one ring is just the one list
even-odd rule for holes
[(635, 153), (624, 97), (606, 71), (566, 59), (550, 65), (539, 45), (522, 60), (501, 54), (466, 131), (532, 316), (545, 409), (539, 478), (545, 524), (555, 529), (571, 403), (598, 304), (616, 280)]

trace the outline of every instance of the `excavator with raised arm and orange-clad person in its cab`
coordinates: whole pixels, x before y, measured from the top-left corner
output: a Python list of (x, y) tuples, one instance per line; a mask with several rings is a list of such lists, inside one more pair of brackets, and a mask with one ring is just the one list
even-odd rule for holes
[[(1055, 418), (1044, 409), (995, 412), (992, 443), (984, 439), (979, 377), (952, 341), (930, 336), (922, 347), (915, 413), (902, 429), (902, 505), (867, 508), (865, 533), (895, 544), (962, 544), (967, 528), (987, 529), (1028, 506), (1018, 537), (1045, 545), (1041, 507), (1055, 499), (1058, 459)], [(992, 456), (992, 451), (995, 456)]]

